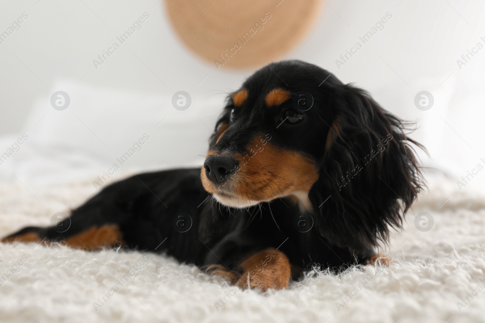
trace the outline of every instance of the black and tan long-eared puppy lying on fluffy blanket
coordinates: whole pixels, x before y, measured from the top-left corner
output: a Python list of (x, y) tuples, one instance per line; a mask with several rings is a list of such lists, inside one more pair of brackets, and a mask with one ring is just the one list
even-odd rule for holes
[(286, 288), (377, 253), (424, 187), (404, 122), (362, 89), (291, 60), (226, 100), (203, 167), (116, 182), (55, 226), (3, 242), (164, 252), (241, 288)]

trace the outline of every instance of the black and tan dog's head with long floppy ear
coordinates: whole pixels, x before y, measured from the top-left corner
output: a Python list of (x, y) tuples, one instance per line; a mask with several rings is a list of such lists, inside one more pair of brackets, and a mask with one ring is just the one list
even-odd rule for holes
[(202, 183), (235, 208), (291, 197), (337, 244), (376, 244), (388, 225), (400, 226), (421, 188), (409, 146), (417, 143), (403, 129), (365, 91), (328, 71), (273, 63), (228, 97)]

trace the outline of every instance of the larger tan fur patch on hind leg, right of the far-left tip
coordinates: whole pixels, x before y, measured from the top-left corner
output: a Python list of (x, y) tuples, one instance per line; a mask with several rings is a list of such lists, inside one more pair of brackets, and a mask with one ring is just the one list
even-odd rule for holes
[(113, 247), (117, 242), (121, 242), (121, 238), (121, 232), (116, 225), (92, 226), (62, 243), (71, 248), (93, 251)]

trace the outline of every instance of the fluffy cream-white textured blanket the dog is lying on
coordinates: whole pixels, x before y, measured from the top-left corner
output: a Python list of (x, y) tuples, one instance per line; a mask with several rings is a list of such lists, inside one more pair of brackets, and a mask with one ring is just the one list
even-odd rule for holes
[[(92, 181), (30, 189), (0, 191), (0, 235), (49, 225)], [(314, 272), (263, 294), (151, 253), (0, 243), (0, 322), (485, 322), (484, 197), (435, 177), (383, 250), (390, 267)], [(422, 211), (428, 232), (414, 225)]]

